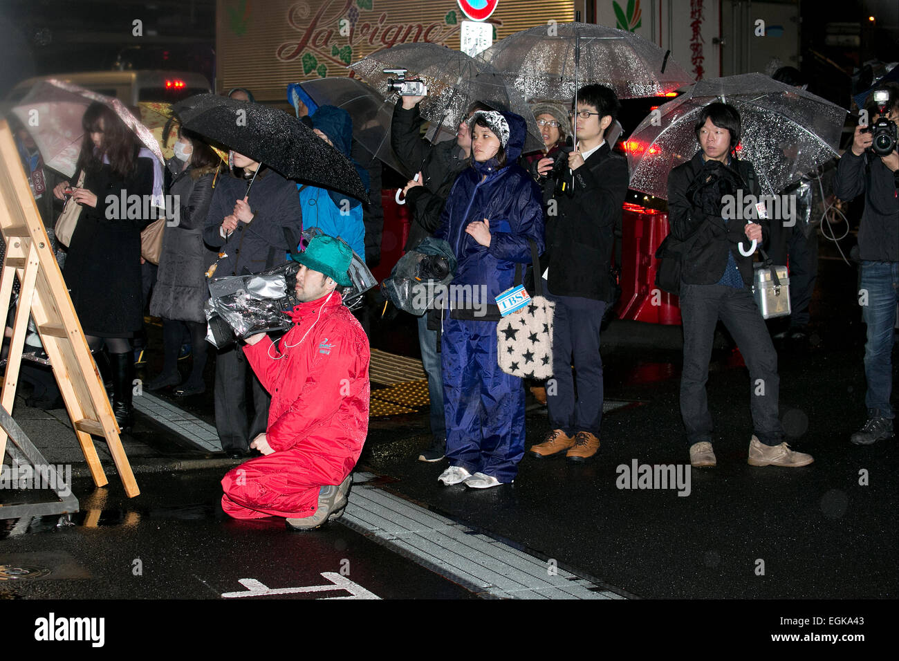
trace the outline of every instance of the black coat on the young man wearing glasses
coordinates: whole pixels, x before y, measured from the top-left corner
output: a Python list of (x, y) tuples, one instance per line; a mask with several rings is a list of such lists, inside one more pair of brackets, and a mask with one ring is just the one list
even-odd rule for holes
[(551, 293), (612, 299), (609, 267), (629, 179), (628, 162), (606, 143), (574, 170), (574, 192), (559, 192), (548, 202), (541, 266), (549, 267)]

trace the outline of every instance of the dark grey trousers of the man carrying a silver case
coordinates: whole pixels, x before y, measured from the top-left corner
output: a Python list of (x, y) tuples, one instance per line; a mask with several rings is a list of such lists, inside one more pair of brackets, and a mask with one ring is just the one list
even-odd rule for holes
[(712, 441), (706, 382), (719, 319), (734, 338), (749, 368), (750, 411), (755, 435), (766, 445), (783, 442), (778, 408), (778, 354), (749, 288), (738, 290), (718, 284), (681, 282), (681, 318), (681, 415), (687, 428), (688, 443)]

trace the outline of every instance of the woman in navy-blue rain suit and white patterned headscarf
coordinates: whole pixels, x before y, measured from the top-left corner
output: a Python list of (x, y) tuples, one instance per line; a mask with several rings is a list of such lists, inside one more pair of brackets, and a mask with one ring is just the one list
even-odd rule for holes
[(470, 125), (472, 166), (458, 175), (434, 235), (458, 260), (441, 318), (449, 469), (439, 479), (486, 488), (512, 482), (524, 454), (524, 389), (497, 361), (495, 299), (513, 286), (516, 265), (530, 264), (530, 240), (543, 252), (543, 211), (537, 184), (516, 164), (525, 121), (476, 112)]

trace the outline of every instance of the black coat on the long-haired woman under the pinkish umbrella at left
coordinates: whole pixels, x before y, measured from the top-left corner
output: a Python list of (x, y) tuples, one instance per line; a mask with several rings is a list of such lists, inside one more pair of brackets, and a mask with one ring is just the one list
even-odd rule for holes
[[(153, 194), (153, 161), (137, 160), (125, 179), (103, 164), (88, 172), (82, 185), (97, 196), (97, 206), (83, 205), (63, 274), (85, 335), (130, 337), (143, 326), (140, 232), (153, 216), (141, 212), (129, 218), (129, 209), (120, 209), (122, 194), (126, 200), (138, 195), (141, 201)], [(73, 187), (78, 175), (71, 180)], [(141, 208), (145, 206), (149, 203)]]

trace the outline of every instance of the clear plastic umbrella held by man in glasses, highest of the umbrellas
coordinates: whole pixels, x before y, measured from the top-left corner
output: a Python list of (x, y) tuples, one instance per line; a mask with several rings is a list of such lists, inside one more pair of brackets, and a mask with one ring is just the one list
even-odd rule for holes
[(581, 85), (600, 83), (619, 99), (662, 96), (692, 76), (670, 51), (627, 30), (593, 23), (555, 23), (510, 34), (478, 58), (525, 97), (567, 103)]

